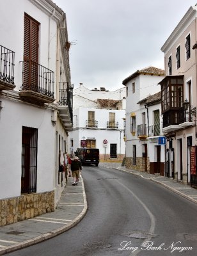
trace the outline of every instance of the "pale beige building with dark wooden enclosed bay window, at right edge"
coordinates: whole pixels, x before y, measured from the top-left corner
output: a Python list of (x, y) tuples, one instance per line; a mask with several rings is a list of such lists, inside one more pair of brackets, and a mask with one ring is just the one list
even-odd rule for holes
[(161, 81), (163, 132), (169, 177), (197, 185), (196, 17), (191, 6), (162, 46), (166, 77)]

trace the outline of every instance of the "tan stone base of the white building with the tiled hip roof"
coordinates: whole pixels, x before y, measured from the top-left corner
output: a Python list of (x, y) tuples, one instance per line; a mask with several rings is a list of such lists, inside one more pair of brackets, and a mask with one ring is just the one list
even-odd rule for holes
[[(150, 172), (150, 160), (149, 157), (146, 159), (147, 161), (147, 172)], [(128, 169), (138, 170), (140, 172), (145, 172), (145, 157), (136, 157), (136, 164), (133, 165), (133, 158), (126, 157), (125, 158), (125, 166)]]

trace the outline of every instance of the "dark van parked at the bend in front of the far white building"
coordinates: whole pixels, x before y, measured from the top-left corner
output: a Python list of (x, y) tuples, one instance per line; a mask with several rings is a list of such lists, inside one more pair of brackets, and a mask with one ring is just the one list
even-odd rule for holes
[(99, 148), (77, 148), (75, 156), (79, 157), (79, 160), (83, 165), (99, 165)]

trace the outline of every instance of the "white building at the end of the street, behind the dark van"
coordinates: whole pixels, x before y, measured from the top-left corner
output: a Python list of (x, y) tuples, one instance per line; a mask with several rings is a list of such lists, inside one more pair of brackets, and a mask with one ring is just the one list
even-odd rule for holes
[(105, 88), (89, 90), (80, 84), (73, 99), (74, 131), (69, 134), (72, 153), (80, 147), (99, 148), (101, 160), (122, 161), (125, 88), (109, 92)]

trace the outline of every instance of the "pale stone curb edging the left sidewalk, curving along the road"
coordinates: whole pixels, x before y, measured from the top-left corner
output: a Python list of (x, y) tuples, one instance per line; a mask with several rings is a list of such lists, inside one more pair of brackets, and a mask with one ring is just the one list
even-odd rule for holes
[(56, 230), (53, 230), (49, 233), (43, 234), (42, 236), (38, 236), (38, 237), (35, 237), (33, 239), (26, 240), (22, 243), (17, 243), (17, 244), (14, 244), (14, 245), (10, 245), (7, 248), (2, 249), (2, 250), (0, 249), (0, 255), (4, 255), (4, 254), (10, 253), (10, 252), (14, 252), (16, 250), (26, 248), (26, 247), (31, 246), (33, 244), (37, 244), (37, 243), (40, 243), (42, 241), (51, 239), (52, 237), (58, 236), (59, 234), (62, 234), (63, 232), (67, 231), (68, 229), (77, 225), (77, 223), (79, 223), (79, 221), (81, 221), (84, 218), (84, 216), (86, 215), (86, 212), (88, 211), (88, 204), (87, 204), (86, 193), (85, 193), (85, 189), (84, 189), (84, 182), (83, 182), (82, 177), (81, 177), (81, 185), (82, 185), (82, 188), (83, 188), (84, 208), (83, 208), (83, 211), (74, 220), (70, 221), (69, 224), (67, 224), (63, 227), (58, 228)]

